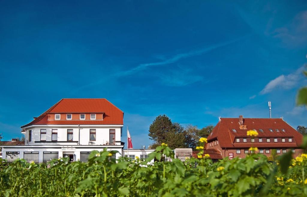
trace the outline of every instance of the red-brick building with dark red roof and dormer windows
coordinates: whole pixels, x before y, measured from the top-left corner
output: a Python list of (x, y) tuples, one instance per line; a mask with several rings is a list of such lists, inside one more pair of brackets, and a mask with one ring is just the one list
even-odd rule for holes
[[(247, 136), (248, 130), (256, 130), (258, 136)], [(208, 136), (204, 153), (219, 153), (221, 157), (244, 158), (250, 147), (258, 153), (270, 156), (273, 149), (277, 154), (293, 151), (293, 156), (303, 152), (299, 149), (303, 136), (282, 118), (220, 118)]]

